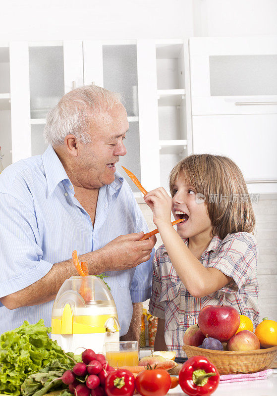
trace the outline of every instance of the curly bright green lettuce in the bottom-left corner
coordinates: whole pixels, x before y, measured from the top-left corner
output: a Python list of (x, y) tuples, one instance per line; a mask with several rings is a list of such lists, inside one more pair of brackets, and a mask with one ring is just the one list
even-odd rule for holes
[(24, 321), (22, 326), (0, 336), (0, 393), (19, 396), (25, 378), (55, 360), (66, 367), (64, 371), (74, 366), (70, 359), (74, 354), (65, 354), (56, 341), (49, 338), (50, 332), (51, 327), (45, 327), (40, 319), (31, 325)]

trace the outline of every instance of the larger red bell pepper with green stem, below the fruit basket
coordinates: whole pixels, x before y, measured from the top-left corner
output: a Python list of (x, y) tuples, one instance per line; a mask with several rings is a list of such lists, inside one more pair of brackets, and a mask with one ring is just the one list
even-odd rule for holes
[(217, 389), (220, 373), (205, 356), (192, 356), (179, 373), (179, 384), (187, 395), (209, 396)]

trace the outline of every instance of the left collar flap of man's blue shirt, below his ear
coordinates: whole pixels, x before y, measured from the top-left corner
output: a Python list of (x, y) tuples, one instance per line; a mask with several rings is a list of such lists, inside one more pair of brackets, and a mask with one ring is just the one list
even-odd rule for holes
[[(47, 198), (50, 198), (56, 186), (63, 180), (69, 180), (62, 163), (58, 159), (54, 148), (49, 145), (45, 152), (42, 154), (42, 162), (45, 170), (45, 176), (48, 187)], [(71, 184), (71, 183), (70, 183)]]

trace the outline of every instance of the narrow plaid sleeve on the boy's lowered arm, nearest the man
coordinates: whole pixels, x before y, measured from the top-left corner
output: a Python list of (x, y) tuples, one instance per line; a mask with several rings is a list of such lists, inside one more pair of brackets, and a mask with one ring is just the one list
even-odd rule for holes
[(162, 279), (160, 276), (160, 261), (163, 256), (163, 246), (160, 246), (153, 259), (153, 279), (152, 279), (152, 295), (149, 302), (149, 312), (153, 316), (165, 319), (165, 301), (159, 301), (162, 291)]

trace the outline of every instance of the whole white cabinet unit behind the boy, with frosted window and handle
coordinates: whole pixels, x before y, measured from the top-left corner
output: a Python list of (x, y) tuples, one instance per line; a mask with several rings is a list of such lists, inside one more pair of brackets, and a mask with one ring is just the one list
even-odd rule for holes
[(231, 157), (253, 193), (277, 192), (277, 37), (189, 40), (193, 151)]

